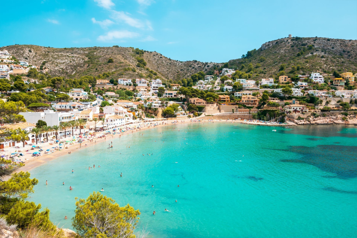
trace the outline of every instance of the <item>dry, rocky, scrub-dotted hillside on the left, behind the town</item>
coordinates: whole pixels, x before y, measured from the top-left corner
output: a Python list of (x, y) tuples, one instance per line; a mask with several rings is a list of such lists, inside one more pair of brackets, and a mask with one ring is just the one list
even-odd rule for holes
[[(207, 72), (213, 66), (221, 65), (196, 60), (171, 60), (157, 52), (135, 51), (131, 47), (51, 48), (36, 45), (11, 45), (0, 48), (0, 50), (5, 49), (16, 59), (27, 61), (31, 65), (39, 67), (42, 62), (46, 61), (44, 71), (50, 75), (70, 78), (114, 72), (114, 77), (135, 79), (146, 77), (152, 70), (162, 79), (176, 80), (190, 77), (198, 71)], [(137, 57), (144, 59), (147, 65), (137, 67)], [(114, 62), (108, 63), (109, 58), (112, 58)]]

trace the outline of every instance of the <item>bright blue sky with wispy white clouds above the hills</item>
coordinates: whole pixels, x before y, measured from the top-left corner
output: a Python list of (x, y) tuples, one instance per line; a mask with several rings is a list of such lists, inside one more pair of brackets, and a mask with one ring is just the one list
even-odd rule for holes
[(16, 2), (16, 10), (2, 2), (0, 46), (119, 45), (175, 60), (226, 62), (288, 34), (357, 39), (356, 0)]

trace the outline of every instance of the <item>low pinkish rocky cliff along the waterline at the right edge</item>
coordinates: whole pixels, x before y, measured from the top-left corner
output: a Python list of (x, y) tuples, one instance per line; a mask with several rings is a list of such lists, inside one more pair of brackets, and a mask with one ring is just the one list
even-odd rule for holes
[(290, 121), (294, 122), (296, 125), (333, 125), (333, 124), (345, 124), (345, 125), (357, 125), (356, 115), (329, 115), (329, 116), (310, 116), (303, 118), (303, 120), (297, 120), (290, 118)]

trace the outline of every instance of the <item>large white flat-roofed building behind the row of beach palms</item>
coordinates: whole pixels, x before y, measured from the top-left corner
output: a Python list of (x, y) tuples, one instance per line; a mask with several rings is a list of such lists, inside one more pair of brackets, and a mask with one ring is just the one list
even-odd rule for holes
[(47, 126), (59, 126), (61, 122), (77, 120), (71, 112), (55, 112), (53, 110), (45, 110), (43, 112), (20, 112), (27, 122), (36, 124), (38, 120), (45, 121)]

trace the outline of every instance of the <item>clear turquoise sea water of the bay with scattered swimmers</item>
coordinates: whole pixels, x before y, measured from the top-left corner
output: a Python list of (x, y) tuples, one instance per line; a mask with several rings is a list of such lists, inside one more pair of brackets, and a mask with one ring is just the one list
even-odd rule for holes
[(140, 210), (149, 237), (357, 237), (356, 127), (207, 122), (142, 132), (33, 169), (31, 200), (65, 228), (74, 198), (104, 188)]

